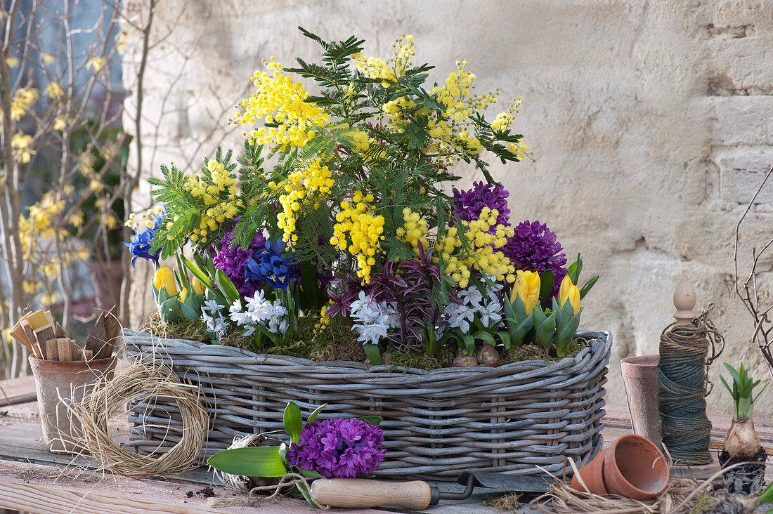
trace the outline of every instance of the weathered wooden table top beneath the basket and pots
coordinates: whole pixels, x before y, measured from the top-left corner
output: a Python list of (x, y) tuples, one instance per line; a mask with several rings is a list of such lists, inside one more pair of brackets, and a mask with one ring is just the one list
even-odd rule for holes
[[(32, 391), (32, 396), (30, 396)], [(188, 471), (174, 480), (124, 478), (94, 471), (94, 461), (52, 454), (43, 444), (34, 384), (29, 378), (0, 382), (0, 507), (25, 512), (256, 512), (256, 507), (209, 507), (206, 496), (231, 498), (241, 493), (213, 485), (214, 478), (206, 468)], [(721, 448), (724, 432), (730, 424), (728, 416), (711, 416), (712, 448)], [(604, 443), (631, 431), (627, 407), (608, 406), (604, 417)], [(755, 427), (768, 451), (773, 451), (773, 420), (755, 420)], [(128, 424), (117, 420), (111, 426), (115, 441), (125, 441)], [(444, 490), (459, 486), (438, 484)], [(211, 492), (207, 487), (211, 486)], [(482, 505), (491, 492), (475, 489), (464, 502), (447, 502), (431, 507), (434, 514), (472, 514), (495, 512)], [(264, 502), (261, 512), (269, 514), (305, 514), (319, 512), (305, 501), (282, 498)], [(376, 509), (351, 509), (352, 514), (383, 512)], [(518, 512), (537, 512), (524, 508)]]

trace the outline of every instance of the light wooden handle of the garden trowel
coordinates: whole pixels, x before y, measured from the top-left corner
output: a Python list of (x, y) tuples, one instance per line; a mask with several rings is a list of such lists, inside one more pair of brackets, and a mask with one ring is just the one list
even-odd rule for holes
[[(433, 500), (427, 482), (380, 482), (365, 478), (317, 478), (311, 486), (312, 499), (332, 507), (404, 507), (426, 509)], [(437, 503), (435, 494), (434, 503)]]

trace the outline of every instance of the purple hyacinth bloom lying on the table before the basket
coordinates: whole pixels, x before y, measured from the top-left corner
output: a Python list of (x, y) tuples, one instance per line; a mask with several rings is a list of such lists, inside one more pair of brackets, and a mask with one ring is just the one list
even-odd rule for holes
[(383, 431), (367, 421), (314, 421), (303, 427), (301, 441), (288, 448), (286, 458), (325, 478), (356, 478), (379, 467), (386, 454), (383, 441)]

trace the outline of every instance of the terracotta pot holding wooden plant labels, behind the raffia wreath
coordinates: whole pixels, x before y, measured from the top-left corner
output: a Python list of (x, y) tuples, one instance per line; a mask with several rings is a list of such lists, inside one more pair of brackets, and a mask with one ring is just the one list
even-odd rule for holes
[(35, 376), (40, 422), (46, 446), (53, 453), (77, 453), (82, 450), (74, 441), (81, 436), (80, 423), (70, 419), (63, 400), (80, 402), (94, 389), (94, 383), (115, 369), (115, 357), (90, 361), (56, 361), (29, 356)]

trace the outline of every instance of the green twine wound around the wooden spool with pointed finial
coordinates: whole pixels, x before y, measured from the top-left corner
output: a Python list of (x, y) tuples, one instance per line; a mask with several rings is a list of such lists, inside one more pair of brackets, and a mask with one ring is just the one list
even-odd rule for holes
[[(663, 444), (679, 465), (705, 465), (709, 454), (711, 422), (706, 397), (713, 384), (707, 372), (724, 349), (724, 339), (708, 318), (710, 305), (690, 325), (666, 327), (660, 335), (658, 410)], [(671, 328), (669, 330), (669, 328)], [(720, 345), (717, 352), (717, 345)], [(712, 356), (708, 356), (711, 346)]]

